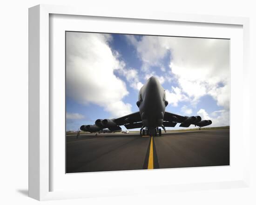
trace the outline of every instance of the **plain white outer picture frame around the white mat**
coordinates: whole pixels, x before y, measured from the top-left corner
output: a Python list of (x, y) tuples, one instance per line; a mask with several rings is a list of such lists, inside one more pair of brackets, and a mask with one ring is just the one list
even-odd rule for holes
[[(76, 16), (90, 16), (103, 18), (125, 18), (125, 19), (144, 19), (161, 21), (176, 21), (188, 23), (205, 23), (243, 26), (243, 115), (242, 122), (245, 126), (245, 119), (249, 119), (249, 19), (241, 17), (222, 17), (209, 15), (175, 14), (160, 12), (124, 12), (118, 11), (98, 11), (91, 8), (75, 8), (70, 6), (38, 5), (29, 8), (29, 197), (37, 200), (51, 199), (74, 199), (97, 196), (116, 196), (127, 194), (143, 194), (145, 190), (132, 189), (119, 190), (113, 185), (109, 192), (86, 192), (72, 191), (50, 191), (51, 187), (51, 126), (50, 126), (50, 39), (49, 39), (49, 15), (50, 14), (69, 14)], [(231, 69), (232, 70), (232, 69)], [(232, 88), (231, 88), (232, 89)], [(232, 115), (232, 114), (231, 114)], [(249, 156), (249, 129), (243, 129), (243, 152)], [(157, 192), (172, 192), (174, 190), (202, 190), (232, 187), (249, 186), (249, 157), (245, 159), (243, 165), (243, 179), (201, 182), (192, 184), (154, 184)], [(165, 172), (168, 172), (166, 170)], [(108, 173), (108, 176), (111, 173)], [(111, 177), (111, 176), (110, 176)], [(88, 185), (89, 186), (89, 185)], [(150, 192), (152, 186), (145, 186), (146, 191)]]

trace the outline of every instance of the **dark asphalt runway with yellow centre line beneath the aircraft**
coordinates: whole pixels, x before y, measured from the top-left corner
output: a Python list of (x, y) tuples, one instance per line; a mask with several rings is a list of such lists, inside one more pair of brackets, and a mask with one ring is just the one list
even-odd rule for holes
[(229, 165), (229, 129), (66, 137), (66, 173)]

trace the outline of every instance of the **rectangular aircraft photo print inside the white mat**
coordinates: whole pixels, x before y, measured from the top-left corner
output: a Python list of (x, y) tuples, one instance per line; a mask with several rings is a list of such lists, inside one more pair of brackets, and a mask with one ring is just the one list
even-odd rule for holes
[(229, 166), (229, 44), (66, 32), (66, 173)]

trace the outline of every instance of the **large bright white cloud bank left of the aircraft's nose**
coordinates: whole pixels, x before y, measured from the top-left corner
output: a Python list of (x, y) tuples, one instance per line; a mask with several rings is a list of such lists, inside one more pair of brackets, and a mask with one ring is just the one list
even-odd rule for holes
[(67, 32), (66, 37), (67, 96), (82, 104), (97, 104), (115, 117), (131, 113), (131, 105), (122, 102), (128, 95), (126, 85), (114, 75), (124, 64), (108, 45), (111, 35)]

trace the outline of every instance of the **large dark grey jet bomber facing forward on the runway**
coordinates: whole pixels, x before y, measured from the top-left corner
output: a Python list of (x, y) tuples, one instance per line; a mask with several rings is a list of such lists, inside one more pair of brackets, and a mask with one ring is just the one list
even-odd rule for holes
[(177, 123), (185, 128), (191, 124), (201, 128), (212, 123), (211, 120), (202, 120), (200, 116), (181, 116), (166, 112), (168, 101), (165, 90), (156, 77), (150, 77), (141, 87), (136, 104), (138, 112), (116, 119), (98, 119), (94, 125), (82, 125), (80, 129), (88, 132), (98, 132), (104, 128), (116, 131), (123, 125), (127, 129), (141, 128), (140, 135), (157, 136), (158, 133), (161, 136), (161, 128), (166, 132), (165, 127), (175, 127)]

